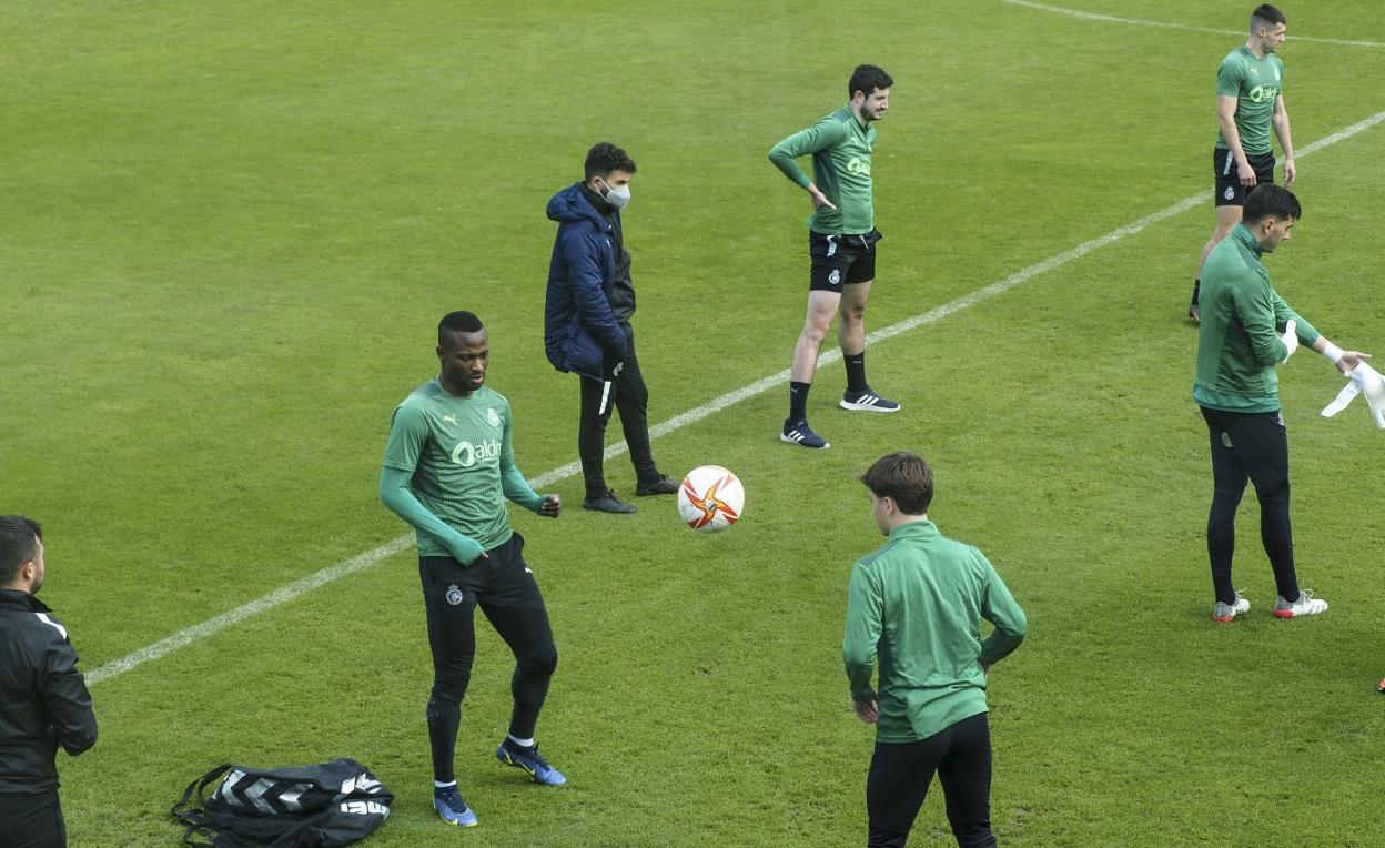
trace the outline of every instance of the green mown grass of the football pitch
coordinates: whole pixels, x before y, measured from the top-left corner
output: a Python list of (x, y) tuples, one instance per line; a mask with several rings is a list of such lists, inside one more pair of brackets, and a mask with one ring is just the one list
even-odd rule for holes
[[(1030, 621), (992, 676), (1007, 845), (1374, 845), (1385, 673), (1379, 445), (1341, 381), (1281, 371), (1299, 574), (1331, 604), (1280, 622), (1241, 509), (1208, 621), (1205, 427), (1183, 319), (1212, 229), (1217, 61), (1253, 3), (240, 3), (0, 6), (0, 511), (44, 524), (43, 599), (72, 632), (101, 740), (62, 755), (73, 845), (177, 844), (168, 808), (224, 761), (338, 755), (396, 793), (371, 845), (859, 845), (873, 730), (841, 628), (879, 538), (856, 475), (910, 449), (932, 518), (982, 547)], [(1213, 6), (1216, 8), (1213, 8)], [(1303, 150), (1385, 96), (1371, 0), (1283, 4)], [(1375, 46), (1303, 40), (1348, 39)], [(780, 443), (783, 387), (655, 441), (661, 467), (745, 482), (744, 522), (518, 510), (561, 654), (539, 726), (568, 787), (494, 762), (511, 660), (479, 624), (457, 769), (481, 826), (431, 808), (431, 683), (413, 547), (129, 671), (108, 664), (399, 539), (377, 500), (393, 406), (436, 371), (452, 309), (490, 330), (529, 477), (576, 459), (576, 378), (543, 356), (548, 197), (612, 140), (636, 328), (665, 421), (788, 366), (806, 195), (769, 147), (837, 108), (857, 62), (896, 79), (875, 148), (870, 348), (904, 412), (835, 409)], [(1302, 157), (1277, 287), (1385, 357), (1385, 125)], [(1202, 193), (1195, 208), (954, 303)], [(619, 428), (612, 423), (611, 439)], [(626, 457), (608, 463), (620, 492)], [(915, 845), (949, 845), (936, 786)]]

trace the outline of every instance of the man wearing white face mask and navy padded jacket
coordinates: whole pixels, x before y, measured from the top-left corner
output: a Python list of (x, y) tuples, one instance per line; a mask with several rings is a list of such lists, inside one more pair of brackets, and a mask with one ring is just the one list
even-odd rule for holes
[(580, 377), (582, 417), (578, 454), (586, 479), (582, 509), (633, 513), (634, 506), (607, 486), (602, 452), (612, 409), (630, 446), (638, 496), (673, 495), (677, 484), (659, 472), (650, 450), (650, 391), (634, 353), (634, 283), (625, 249), (620, 209), (630, 202), (634, 161), (602, 141), (587, 151), (583, 182), (548, 201), (558, 222), (548, 265), (543, 342), (548, 362)]

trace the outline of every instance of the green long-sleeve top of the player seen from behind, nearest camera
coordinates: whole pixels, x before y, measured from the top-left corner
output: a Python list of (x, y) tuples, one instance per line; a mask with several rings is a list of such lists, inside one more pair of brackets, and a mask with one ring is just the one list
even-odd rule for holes
[[(981, 619), (996, 625), (981, 637)], [(907, 743), (986, 712), (990, 665), (1019, 647), (1028, 622), (1004, 581), (932, 521), (896, 527), (852, 568), (842, 658), (852, 700), (877, 700), (877, 740)], [(871, 675), (879, 662), (879, 691)]]

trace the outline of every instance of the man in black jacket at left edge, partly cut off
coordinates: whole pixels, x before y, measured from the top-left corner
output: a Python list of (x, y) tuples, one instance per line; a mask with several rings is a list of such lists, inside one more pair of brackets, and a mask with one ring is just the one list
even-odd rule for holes
[(35, 597), (43, 588), (43, 531), (0, 515), (0, 844), (62, 848), (58, 745), (96, 744), (96, 715), (68, 630)]

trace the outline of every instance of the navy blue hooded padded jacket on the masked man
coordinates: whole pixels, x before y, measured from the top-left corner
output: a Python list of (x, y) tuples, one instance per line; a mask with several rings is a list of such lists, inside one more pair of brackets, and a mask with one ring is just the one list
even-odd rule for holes
[(560, 371), (602, 380), (607, 363), (625, 356), (625, 331), (611, 312), (616, 274), (612, 226), (583, 197), (582, 183), (553, 195), (548, 218), (558, 222), (558, 236), (548, 263), (543, 346)]

